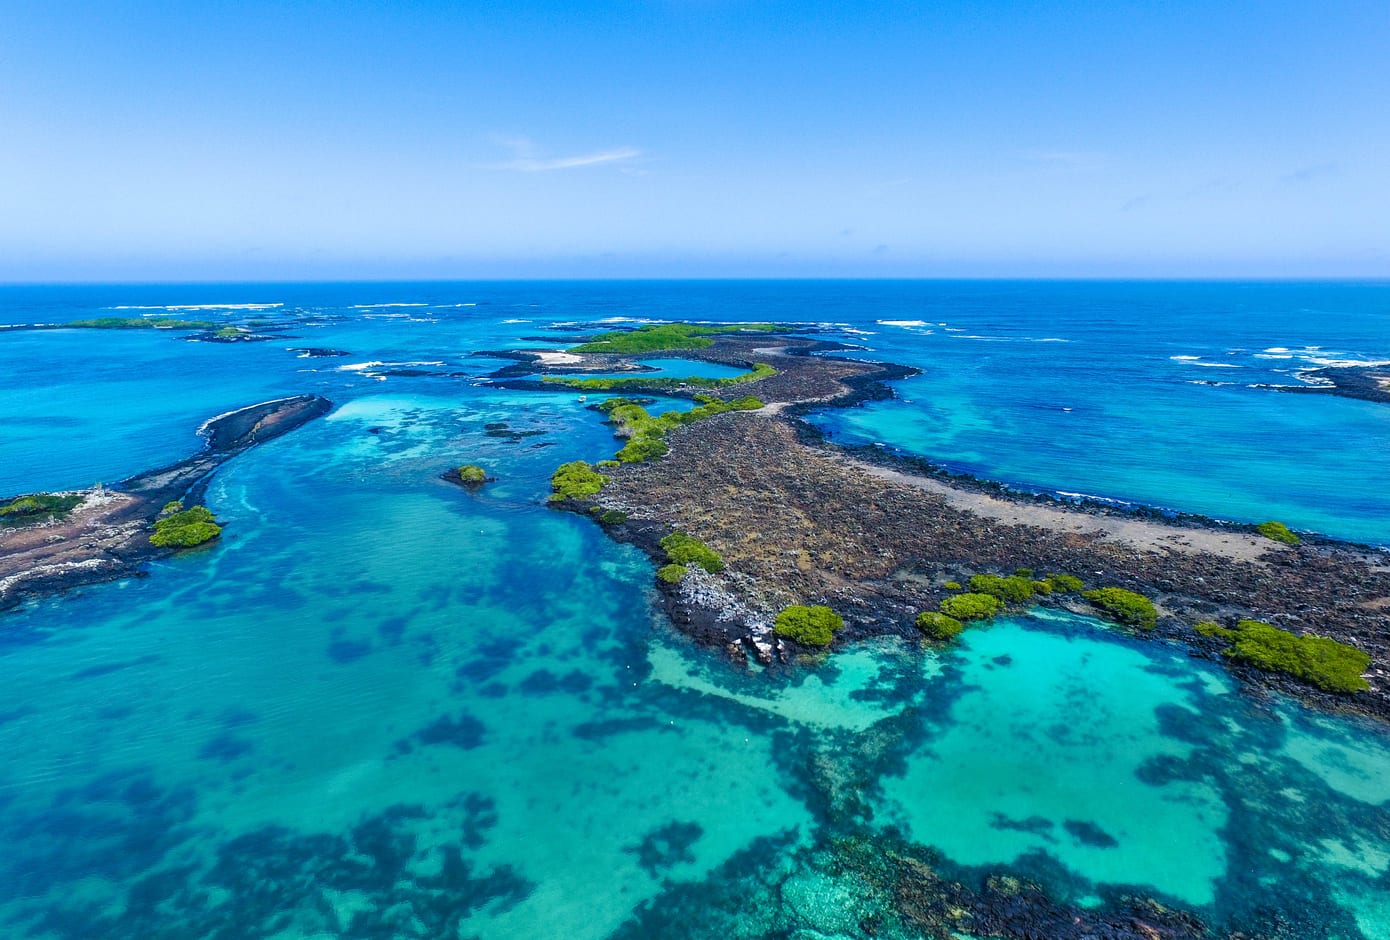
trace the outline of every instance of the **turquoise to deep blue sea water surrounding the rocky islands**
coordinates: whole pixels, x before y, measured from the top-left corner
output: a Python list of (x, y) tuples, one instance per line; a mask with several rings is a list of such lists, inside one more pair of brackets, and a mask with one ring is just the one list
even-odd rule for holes
[[(145, 314), (292, 330), (0, 332), (0, 495), (170, 463), (252, 402), (336, 407), (218, 473), (215, 546), (0, 615), (3, 936), (867, 936), (848, 838), (1084, 905), (1390, 936), (1384, 730), (1058, 615), (734, 667), (655, 610), (644, 556), (543, 506), (556, 464), (612, 455), (600, 417), (473, 355), (830, 324), (923, 370), (819, 416), (834, 439), (1387, 545), (1390, 407), (1257, 387), (1390, 360), (1390, 285), (0, 288), (0, 323)], [(460, 463), (499, 480), (438, 480)]]

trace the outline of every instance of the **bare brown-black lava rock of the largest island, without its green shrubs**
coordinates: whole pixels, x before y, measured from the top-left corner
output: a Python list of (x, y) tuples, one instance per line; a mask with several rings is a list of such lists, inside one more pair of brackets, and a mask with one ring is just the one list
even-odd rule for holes
[[(880, 448), (841, 448), (799, 416), (888, 398), (884, 382), (910, 373), (826, 355), (835, 349), (760, 335), (680, 350), (776, 366), (777, 375), (758, 382), (691, 391), (756, 395), (766, 407), (678, 428), (667, 456), (605, 469), (610, 483), (592, 501), (567, 501), (577, 512), (626, 514), (605, 530), (657, 565), (666, 562), (657, 542), (674, 528), (724, 558), (719, 574), (657, 583), (677, 627), (734, 656), (785, 663), (806, 652), (771, 633), (790, 603), (834, 608), (847, 620), (842, 641), (916, 638), (916, 615), (951, 594), (947, 583), (1027, 567), (1144, 594), (1159, 622), (1138, 635), (1227, 665), (1222, 642), (1195, 633), (1195, 623), (1250, 617), (1355, 645), (1372, 656), (1368, 692), (1337, 695), (1252, 667), (1233, 672), (1251, 691), (1390, 720), (1390, 552), (1322, 538), (1284, 545), (1252, 526), (1026, 494)], [(1095, 613), (1070, 594), (1037, 602)]]

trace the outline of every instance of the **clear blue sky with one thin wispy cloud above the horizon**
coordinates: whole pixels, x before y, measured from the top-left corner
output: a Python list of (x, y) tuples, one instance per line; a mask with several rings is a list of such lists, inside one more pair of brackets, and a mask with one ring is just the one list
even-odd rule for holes
[(1390, 3), (0, 0), (0, 281), (1390, 277)]

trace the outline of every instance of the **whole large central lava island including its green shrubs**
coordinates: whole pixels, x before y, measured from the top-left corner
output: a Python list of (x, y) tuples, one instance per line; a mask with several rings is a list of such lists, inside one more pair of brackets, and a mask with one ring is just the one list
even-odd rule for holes
[[(617, 459), (564, 464), (552, 503), (642, 548), (692, 637), (791, 663), (872, 635), (949, 641), (1038, 603), (1184, 644), (1251, 690), (1390, 720), (1390, 552), (1026, 494), (838, 446), (799, 416), (891, 398), (885, 382), (913, 370), (827, 355), (845, 348), (794, 327), (695, 332), (699, 343), (682, 328), (673, 348), (659, 345), (669, 325), (605, 334), (499, 378), (537, 387), (514, 377), (541, 371), (546, 388), (626, 396), (591, 405), (627, 441)], [(670, 349), (749, 371), (641, 374), (642, 356)], [(641, 396), (655, 394), (701, 403), (653, 417)]]

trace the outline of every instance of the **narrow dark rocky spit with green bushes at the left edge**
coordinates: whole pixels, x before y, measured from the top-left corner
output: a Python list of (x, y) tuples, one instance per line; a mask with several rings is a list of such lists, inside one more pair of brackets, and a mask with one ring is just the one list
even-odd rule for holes
[(154, 558), (215, 538), (220, 528), (199, 503), (217, 467), (329, 409), (317, 395), (250, 405), (206, 421), (204, 448), (178, 463), (110, 488), (0, 499), (0, 610), (140, 574)]

